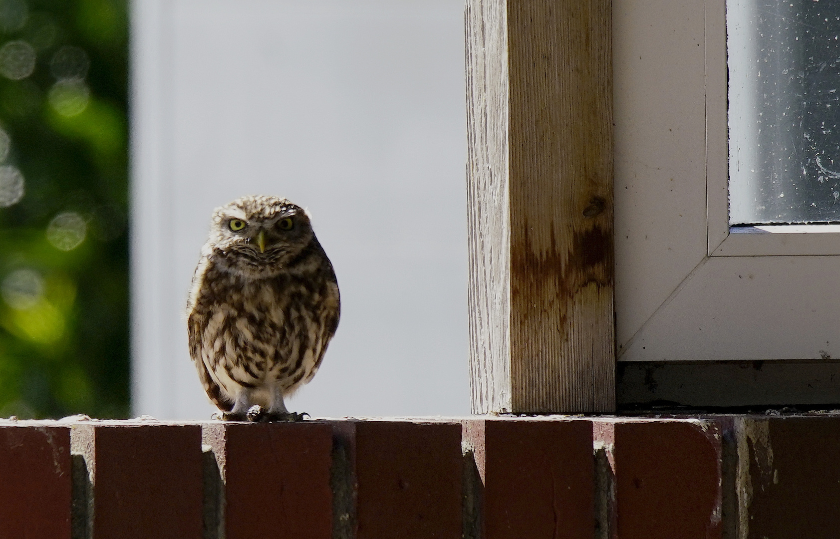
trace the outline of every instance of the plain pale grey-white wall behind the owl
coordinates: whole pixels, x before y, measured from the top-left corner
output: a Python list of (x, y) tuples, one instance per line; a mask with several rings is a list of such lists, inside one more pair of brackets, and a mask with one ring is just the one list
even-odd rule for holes
[(312, 416), (469, 412), (461, 0), (134, 0), (135, 414), (213, 411), (186, 290), (213, 207), (307, 207), (342, 318)]

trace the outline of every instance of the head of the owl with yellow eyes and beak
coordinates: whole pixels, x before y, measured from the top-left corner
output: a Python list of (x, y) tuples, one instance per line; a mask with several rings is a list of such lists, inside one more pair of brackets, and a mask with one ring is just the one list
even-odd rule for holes
[(206, 249), (223, 269), (246, 278), (290, 270), (315, 240), (307, 212), (277, 196), (243, 196), (216, 208)]

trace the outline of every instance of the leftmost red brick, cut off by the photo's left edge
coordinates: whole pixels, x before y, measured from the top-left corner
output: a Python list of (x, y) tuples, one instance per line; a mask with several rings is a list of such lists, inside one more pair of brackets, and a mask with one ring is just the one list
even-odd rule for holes
[(0, 426), (0, 539), (70, 539), (70, 429)]

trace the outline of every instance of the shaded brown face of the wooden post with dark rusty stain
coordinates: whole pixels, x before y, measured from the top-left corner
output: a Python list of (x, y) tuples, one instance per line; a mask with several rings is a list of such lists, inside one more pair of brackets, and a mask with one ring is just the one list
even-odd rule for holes
[(611, 16), (507, 3), (515, 410), (614, 406)]

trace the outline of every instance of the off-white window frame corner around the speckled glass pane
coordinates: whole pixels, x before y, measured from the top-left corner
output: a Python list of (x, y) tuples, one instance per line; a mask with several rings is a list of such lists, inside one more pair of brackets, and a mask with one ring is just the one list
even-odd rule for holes
[(613, 4), (620, 362), (840, 357), (840, 233), (728, 227), (725, 13)]

